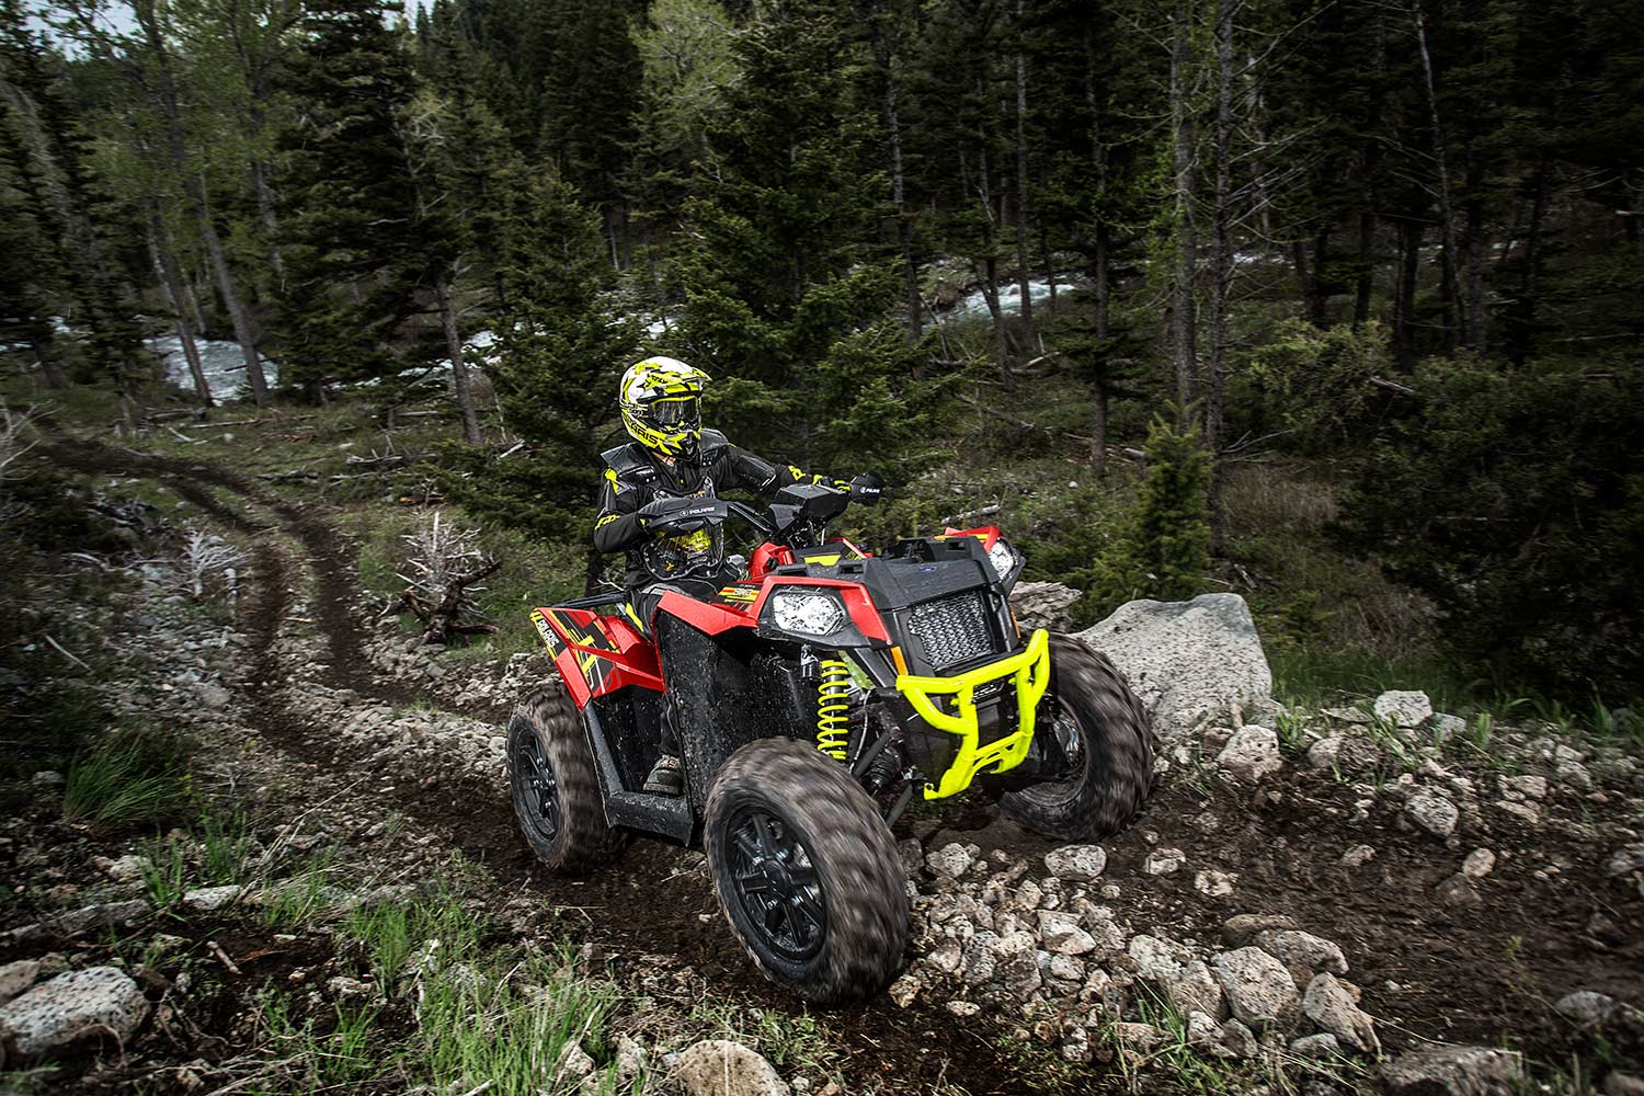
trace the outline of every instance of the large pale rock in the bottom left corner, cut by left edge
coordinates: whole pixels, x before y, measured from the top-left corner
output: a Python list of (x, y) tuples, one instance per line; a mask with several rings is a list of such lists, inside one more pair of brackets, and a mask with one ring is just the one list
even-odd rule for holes
[(122, 1043), (148, 1015), (148, 1001), (125, 971), (90, 966), (58, 974), (0, 1007), (0, 1043), (36, 1058), (85, 1035), (112, 1034)]

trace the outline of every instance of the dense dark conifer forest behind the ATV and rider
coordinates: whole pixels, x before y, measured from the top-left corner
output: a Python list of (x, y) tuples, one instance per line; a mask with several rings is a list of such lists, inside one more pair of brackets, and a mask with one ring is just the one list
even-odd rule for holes
[(883, 473), (873, 542), (1000, 524), (1085, 619), (1235, 590), (1291, 695), (1608, 720), (1641, 214), (1624, 0), (0, 0), (8, 403), (434, 406), (508, 616), (597, 577), (659, 352), (735, 442)]

